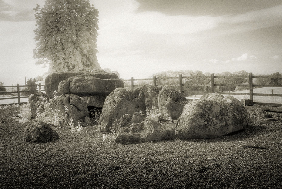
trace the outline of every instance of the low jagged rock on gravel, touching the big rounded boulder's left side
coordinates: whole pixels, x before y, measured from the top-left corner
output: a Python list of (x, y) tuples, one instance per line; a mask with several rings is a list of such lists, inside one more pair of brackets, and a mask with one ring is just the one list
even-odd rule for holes
[(115, 133), (114, 140), (116, 143), (132, 144), (172, 138), (175, 138), (175, 131), (170, 124), (144, 120), (141, 123), (132, 123), (129, 127), (122, 127)]

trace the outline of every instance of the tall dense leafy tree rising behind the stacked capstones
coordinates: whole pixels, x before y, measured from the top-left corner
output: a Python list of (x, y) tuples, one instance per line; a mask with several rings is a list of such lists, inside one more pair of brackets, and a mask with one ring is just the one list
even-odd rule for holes
[(98, 10), (89, 0), (46, 0), (37, 4), (36, 64), (52, 72), (100, 68), (97, 61)]

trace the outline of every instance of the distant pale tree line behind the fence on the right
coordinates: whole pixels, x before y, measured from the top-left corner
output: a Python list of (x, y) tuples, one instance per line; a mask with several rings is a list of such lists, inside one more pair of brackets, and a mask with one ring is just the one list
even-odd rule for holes
[[(164, 71), (159, 72), (156, 74), (153, 74), (153, 76), (156, 76), (157, 79), (157, 85), (162, 86), (170, 86), (171, 88), (175, 90), (179, 90), (179, 79), (170, 79), (170, 77), (178, 77), (179, 74), (182, 74), (183, 77), (183, 90), (184, 95), (191, 95), (193, 92), (210, 92), (211, 91), (211, 80), (210, 80), (210, 73), (203, 73), (199, 70), (192, 71), (192, 70), (180, 70), (180, 71)], [(258, 74), (257, 74), (258, 75)], [(279, 72), (272, 73), (270, 75), (281, 75)], [(153, 77), (152, 76), (152, 77)], [(222, 73), (216, 73), (215, 76), (236, 76), (231, 78), (215, 78), (216, 84), (234, 84), (234, 85), (240, 85), (240, 84), (248, 84), (249, 78), (245, 78), (246, 76), (249, 76), (249, 73), (242, 70), (239, 72), (222, 72)], [(282, 79), (281, 78), (254, 78), (253, 84), (257, 85), (280, 85)], [(139, 82), (138, 85), (142, 85), (141, 82)], [(215, 88), (215, 92), (224, 92), (224, 91), (234, 91), (234, 90), (243, 90), (248, 89), (249, 87), (239, 87), (239, 86), (219, 86)]]

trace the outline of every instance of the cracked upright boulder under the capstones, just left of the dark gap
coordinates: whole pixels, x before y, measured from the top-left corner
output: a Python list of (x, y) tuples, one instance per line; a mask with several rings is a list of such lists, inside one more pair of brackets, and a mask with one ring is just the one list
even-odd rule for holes
[(50, 99), (49, 102), (52, 109), (58, 109), (63, 114), (65, 114), (65, 106), (67, 107), (66, 121), (72, 118), (75, 123), (77, 120), (84, 120), (86, 116), (89, 116), (85, 103), (75, 94), (60, 95), (57, 98)]

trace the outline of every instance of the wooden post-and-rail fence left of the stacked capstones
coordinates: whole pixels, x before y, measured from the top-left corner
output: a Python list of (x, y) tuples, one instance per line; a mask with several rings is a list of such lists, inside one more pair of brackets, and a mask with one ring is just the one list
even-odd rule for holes
[[(2, 104), (1, 101), (2, 100), (8, 100), (8, 99), (18, 99), (18, 103), (17, 104), (24, 104), (24, 103), (27, 103), (27, 102), (21, 102), (21, 98), (28, 98), (29, 96), (20, 96), (20, 93), (26, 93), (26, 92), (38, 92), (37, 90), (26, 90), (26, 91), (21, 91), (20, 90), (20, 87), (31, 87), (32, 85), (19, 85), (17, 84), (16, 86), (0, 86), (0, 89), (1, 88), (15, 88), (17, 87), (17, 91), (2, 91), (0, 90), (0, 95), (1, 94), (10, 94), (10, 93), (17, 93), (17, 96), (15, 97), (8, 97), (8, 98), (0, 98), (0, 105), (3, 106), (3, 105), (11, 105), (11, 104), (14, 104), (14, 103), (6, 103), (6, 104)], [(39, 86), (39, 89), (41, 90), (41, 87), (44, 86), (44, 85), (41, 85), (41, 83), (38, 84)], [(45, 91), (45, 90), (41, 90), (41, 91)]]

